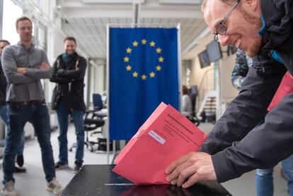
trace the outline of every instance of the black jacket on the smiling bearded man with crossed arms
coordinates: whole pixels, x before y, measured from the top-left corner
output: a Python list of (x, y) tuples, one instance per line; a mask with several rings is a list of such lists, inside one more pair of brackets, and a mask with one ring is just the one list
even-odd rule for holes
[(84, 104), (84, 75), (86, 74), (86, 59), (75, 53), (74, 58), (63, 61), (62, 55), (54, 62), (51, 82), (56, 82), (52, 96), (52, 109), (57, 108), (60, 99), (69, 110), (86, 109)]

